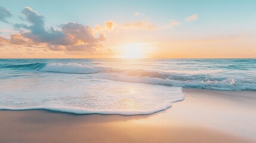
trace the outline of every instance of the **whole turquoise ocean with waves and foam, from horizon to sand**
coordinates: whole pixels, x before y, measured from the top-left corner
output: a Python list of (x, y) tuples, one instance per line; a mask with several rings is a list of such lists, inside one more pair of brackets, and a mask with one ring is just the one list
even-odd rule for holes
[(256, 90), (256, 59), (0, 59), (0, 110), (152, 114), (182, 88)]

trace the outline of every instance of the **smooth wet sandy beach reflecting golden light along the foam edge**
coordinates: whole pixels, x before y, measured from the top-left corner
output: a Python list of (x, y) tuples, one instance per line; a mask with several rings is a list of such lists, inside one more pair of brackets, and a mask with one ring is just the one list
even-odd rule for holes
[(256, 92), (183, 89), (146, 116), (0, 111), (0, 142), (256, 142)]

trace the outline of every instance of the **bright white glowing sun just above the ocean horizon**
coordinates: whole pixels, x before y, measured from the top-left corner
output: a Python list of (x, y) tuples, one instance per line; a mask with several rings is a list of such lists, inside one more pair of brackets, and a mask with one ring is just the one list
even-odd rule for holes
[(122, 46), (123, 58), (144, 58), (143, 45), (140, 43), (131, 43)]

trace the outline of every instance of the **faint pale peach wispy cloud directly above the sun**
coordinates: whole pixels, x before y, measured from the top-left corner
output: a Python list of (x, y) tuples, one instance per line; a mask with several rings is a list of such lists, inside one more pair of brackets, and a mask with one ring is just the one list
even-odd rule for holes
[(149, 21), (136, 21), (121, 24), (121, 28), (128, 30), (155, 30), (157, 26), (155, 24), (149, 23)]

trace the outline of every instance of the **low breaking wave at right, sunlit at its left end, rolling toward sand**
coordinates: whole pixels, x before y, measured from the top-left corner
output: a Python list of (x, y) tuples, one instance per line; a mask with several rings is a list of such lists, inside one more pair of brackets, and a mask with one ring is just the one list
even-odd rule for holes
[(256, 81), (231, 77), (214, 77), (208, 74), (164, 73), (159, 71), (127, 70), (102, 78), (122, 82), (147, 83), (182, 88), (212, 89), (220, 91), (256, 90)]

